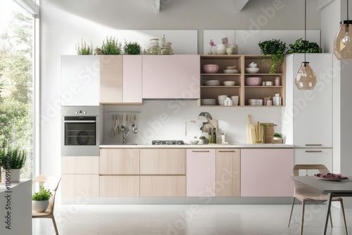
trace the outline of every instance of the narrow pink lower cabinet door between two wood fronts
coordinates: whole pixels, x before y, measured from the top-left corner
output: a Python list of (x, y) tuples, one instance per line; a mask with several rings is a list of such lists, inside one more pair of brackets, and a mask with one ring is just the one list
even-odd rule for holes
[(215, 196), (215, 149), (187, 149), (187, 196)]

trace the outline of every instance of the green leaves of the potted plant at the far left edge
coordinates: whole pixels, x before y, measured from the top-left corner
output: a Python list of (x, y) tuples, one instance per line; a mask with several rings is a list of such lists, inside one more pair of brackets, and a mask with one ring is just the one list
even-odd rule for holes
[[(9, 155), (9, 158), (6, 156)], [(27, 153), (20, 148), (0, 149), (0, 167), (4, 169), (21, 169), (27, 160)]]

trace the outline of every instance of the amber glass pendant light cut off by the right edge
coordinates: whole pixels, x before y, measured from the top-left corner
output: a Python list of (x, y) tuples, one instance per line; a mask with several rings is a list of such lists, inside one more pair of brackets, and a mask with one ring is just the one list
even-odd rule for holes
[(340, 22), (340, 29), (334, 39), (334, 54), (339, 60), (352, 60), (352, 20), (348, 20), (348, 0), (347, 0), (347, 20)]

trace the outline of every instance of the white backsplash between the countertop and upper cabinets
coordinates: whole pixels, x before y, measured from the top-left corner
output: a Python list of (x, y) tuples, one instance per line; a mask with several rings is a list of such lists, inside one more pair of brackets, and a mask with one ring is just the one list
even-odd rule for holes
[(275, 132), (281, 132), (281, 107), (197, 107), (196, 101), (168, 100), (144, 101), (143, 106), (103, 106), (103, 143), (121, 144), (122, 133), (113, 135), (111, 112), (131, 112), (137, 115), (138, 133), (127, 136), (126, 144), (151, 144), (152, 140), (183, 140), (187, 120), (196, 120), (200, 113), (208, 112), (218, 120), (218, 131), (225, 132), (230, 144), (246, 144), (248, 115), (251, 122), (272, 122)]

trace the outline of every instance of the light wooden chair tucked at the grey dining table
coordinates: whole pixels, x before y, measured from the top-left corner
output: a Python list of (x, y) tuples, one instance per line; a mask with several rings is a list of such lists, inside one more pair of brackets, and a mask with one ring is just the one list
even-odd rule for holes
[[(325, 165), (320, 164), (311, 164), (311, 165), (294, 165), (294, 176), (299, 175), (299, 170), (318, 170), (320, 174), (327, 174), (329, 170)], [(306, 174), (308, 175), (308, 174)], [(304, 222), (304, 209), (306, 205), (306, 201), (310, 201), (313, 203), (325, 203), (327, 201), (327, 195), (322, 194), (321, 191), (313, 189), (306, 184), (294, 181), (294, 200), (292, 201), (291, 207), (291, 214), (289, 215), (289, 224), (291, 222), (292, 211), (294, 210), (294, 202), (298, 199), (302, 202), (302, 213), (301, 213), (301, 231), (300, 234), (303, 234), (303, 222)], [(344, 223), (347, 235), (347, 225), (346, 225), (346, 218), (345, 218), (345, 211), (344, 211), (344, 203), (342, 202), (342, 198), (335, 197), (332, 198), (332, 201), (339, 201), (341, 203), (342, 214), (344, 215)], [(330, 212), (330, 223), (332, 225), (332, 217)], [(289, 227), (289, 225), (288, 225)]]

